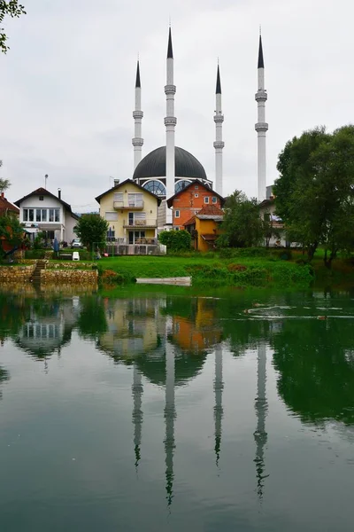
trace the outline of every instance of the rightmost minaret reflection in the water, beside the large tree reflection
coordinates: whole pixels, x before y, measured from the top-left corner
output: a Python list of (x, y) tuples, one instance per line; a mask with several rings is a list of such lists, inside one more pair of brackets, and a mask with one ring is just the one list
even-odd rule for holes
[(265, 479), (265, 445), (267, 440), (266, 434), (266, 415), (268, 404), (266, 403), (266, 344), (258, 345), (258, 364), (257, 364), (257, 397), (255, 401), (257, 416), (257, 430), (254, 433), (256, 442), (256, 471), (257, 471), (257, 493), (258, 497), (263, 497)]

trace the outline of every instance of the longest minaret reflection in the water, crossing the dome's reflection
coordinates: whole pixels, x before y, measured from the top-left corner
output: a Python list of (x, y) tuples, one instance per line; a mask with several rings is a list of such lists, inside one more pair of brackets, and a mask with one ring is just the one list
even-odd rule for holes
[(165, 479), (167, 504), (173, 499), (173, 451), (174, 451), (174, 347), (165, 345)]

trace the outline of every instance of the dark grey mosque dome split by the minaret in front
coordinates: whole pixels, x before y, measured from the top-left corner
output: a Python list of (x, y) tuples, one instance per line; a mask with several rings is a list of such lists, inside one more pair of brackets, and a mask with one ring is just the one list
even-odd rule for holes
[[(174, 148), (174, 162), (176, 177), (195, 177), (207, 179), (205, 170), (194, 155), (178, 148)], [(146, 177), (165, 177), (165, 146), (148, 153), (135, 168), (133, 179)]]

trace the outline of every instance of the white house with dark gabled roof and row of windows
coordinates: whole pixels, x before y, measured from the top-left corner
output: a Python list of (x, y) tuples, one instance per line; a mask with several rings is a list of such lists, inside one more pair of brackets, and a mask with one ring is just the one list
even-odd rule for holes
[(71, 242), (76, 237), (73, 228), (78, 216), (61, 199), (60, 189), (55, 196), (41, 187), (15, 201), (15, 205), (19, 207), (19, 222), (25, 225), (27, 232), (46, 231), (48, 239), (57, 238), (59, 242)]

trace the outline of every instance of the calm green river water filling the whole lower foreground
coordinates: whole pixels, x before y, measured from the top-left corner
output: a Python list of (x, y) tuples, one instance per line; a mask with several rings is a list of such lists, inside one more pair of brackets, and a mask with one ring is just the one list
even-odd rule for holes
[(352, 531), (354, 291), (141, 290), (0, 295), (1, 530)]

